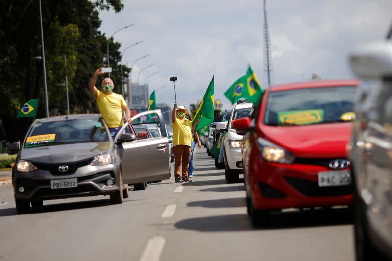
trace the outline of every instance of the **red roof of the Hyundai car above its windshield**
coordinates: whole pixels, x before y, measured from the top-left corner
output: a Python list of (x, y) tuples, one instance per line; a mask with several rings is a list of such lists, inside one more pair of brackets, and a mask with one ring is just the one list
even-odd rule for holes
[(288, 91), (294, 89), (308, 89), (319, 87), (357, 86), (359, 80), (320, 80), (307, 82), (294, 82), (270, 87), (271, 92)]

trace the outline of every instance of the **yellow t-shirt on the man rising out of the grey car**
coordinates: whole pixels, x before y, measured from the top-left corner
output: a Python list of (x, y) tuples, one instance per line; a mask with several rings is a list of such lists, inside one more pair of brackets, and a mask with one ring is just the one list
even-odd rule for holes
[(98, 90), (95, 98), (102, 118), (109, 128), (117, 128), (124, 125), (122, 107), (126, 106), (123, 95), (116, 93), (105, 94)]

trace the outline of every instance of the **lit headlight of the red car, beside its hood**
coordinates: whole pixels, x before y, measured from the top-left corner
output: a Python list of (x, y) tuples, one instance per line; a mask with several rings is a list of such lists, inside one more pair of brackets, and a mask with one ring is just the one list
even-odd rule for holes
[(262, 158), (266, 161), (291, 164), (295, 159), (291, 152), (262, 138), (257, 139), (257, 144)]

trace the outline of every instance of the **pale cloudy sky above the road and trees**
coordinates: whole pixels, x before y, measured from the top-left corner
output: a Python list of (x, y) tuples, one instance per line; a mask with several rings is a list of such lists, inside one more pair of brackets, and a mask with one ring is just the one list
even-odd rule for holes
[[(186, 107), (201, 100), (215, 75), (215, 98), (232, 107), (223, 95), (245, 74), (248, 64), (266, 87), (263, 59), (262, 0), (124, 0), (120, 13), (100, 13), (100, 30), (116, 30), (123, 64), (132, 81), (156, 90), (157, 103), (174, 103), (169, 78), (176, 76), (177, 101)], [(353, 78), (348, 55), (355, 47), (382, 41), (392, 24), (391, 0), (267, 0), (272, 51), (272, 85), (322, 79)], [(155, 64), (140, 74), (140, 70)]]

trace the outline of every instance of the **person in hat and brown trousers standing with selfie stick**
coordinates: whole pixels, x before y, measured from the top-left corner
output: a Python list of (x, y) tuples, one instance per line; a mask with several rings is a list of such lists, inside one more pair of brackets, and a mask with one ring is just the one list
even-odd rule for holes
[[(174, 104), (172, 111), (173, 122), (173, 153), (174, 153), (174, 176), (175, 182), (192, 181), (188, 178), (188, 165), (191, 155), (192, 133), (195, 131), (199, 119), (196, 120), (194, 127), (189, 119), (185, 118), (187, 110), (184, 106)], [(182, 176), (180, 167), (182, 165)]]

